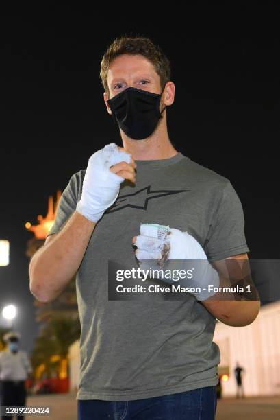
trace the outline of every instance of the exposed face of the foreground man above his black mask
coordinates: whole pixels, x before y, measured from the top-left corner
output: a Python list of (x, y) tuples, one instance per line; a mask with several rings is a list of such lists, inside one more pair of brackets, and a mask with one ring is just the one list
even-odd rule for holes
[[(110, 106), (106, 101), (128, 87), (162, 93), (160, 76), (155, 71), (153, 64), (140, 54), (123, 54), (116, 57), (109, 67), (107, 85), (110, 97), (107, 93), (104, 93), (104, 100), (110, 114)], [(162, 95), (162, 101), (164, 101), (164, 94)]]

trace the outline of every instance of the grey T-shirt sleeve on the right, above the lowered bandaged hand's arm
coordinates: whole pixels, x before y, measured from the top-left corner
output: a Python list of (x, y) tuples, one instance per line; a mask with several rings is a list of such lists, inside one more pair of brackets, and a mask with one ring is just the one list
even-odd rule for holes
[(217, 261), (249, 252), (244, 233), (244, 213), (235, 189), (227, 180), (205, 241), (209, 260)]

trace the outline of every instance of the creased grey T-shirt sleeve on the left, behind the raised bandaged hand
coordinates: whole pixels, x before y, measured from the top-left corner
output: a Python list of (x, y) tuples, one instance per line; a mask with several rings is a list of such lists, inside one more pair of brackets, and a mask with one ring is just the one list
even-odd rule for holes
[(79, 201), (80, 175), (81, 171), (71, 176), (68, 185), (60, 197), (58, 208), (55, 213), (55, 221), (47, 236), (60, 231), (68, 218), (74, 213), (77, 202)]

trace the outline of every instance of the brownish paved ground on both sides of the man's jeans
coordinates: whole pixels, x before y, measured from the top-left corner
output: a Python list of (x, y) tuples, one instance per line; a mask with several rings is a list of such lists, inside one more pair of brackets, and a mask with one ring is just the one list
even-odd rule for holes
[[(49, 416), (27, 416), (27, 420), (77, 420), (76, 394), (29, 397), (27, 406), (50, 406)], [(279, 420), (280, 397), (218, 400), (216, 420)]]

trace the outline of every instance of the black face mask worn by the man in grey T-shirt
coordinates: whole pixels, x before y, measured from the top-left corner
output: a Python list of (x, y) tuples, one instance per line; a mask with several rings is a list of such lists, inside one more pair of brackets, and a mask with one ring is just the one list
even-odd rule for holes
[[(163, 93), (163, 91), (162, 91)], [(131, 139), (141, 140), (151, 136), (162, 118), (160, 112), (162, 93), (152, 93), (129, 87), (107, 100), (115, 122)]]

